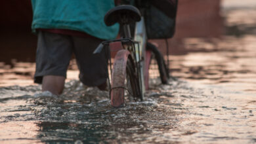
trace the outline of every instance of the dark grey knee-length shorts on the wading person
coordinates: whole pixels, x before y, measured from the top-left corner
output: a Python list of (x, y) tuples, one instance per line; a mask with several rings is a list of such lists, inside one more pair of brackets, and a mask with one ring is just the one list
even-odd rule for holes
[(66, 77), (72, 53), (79, 68), (79, 80), (87, 86), (98, 86), (106, 81), (107, 61), (105, 51), (93, 54), (102, 42), (93, 37), (74, 37), (39, 31), (37, 41), (35, 83), (42, 83), (43, 76)]

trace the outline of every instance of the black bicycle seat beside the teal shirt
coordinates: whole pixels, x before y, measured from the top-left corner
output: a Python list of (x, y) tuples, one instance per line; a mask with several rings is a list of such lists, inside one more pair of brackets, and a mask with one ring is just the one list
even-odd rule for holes
[(132, 5), (119, 5), (108, 10), (104, 16), (106, 26), (112, 26), (117, 22), (119, 24), (129, 24), (140, 21), (140, 10)]

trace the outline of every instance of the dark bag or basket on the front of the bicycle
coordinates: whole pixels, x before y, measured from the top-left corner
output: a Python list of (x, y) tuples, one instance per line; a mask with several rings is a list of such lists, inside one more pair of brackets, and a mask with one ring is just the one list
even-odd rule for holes
[(148, 39), (173, 37), (178, 0), (150, 0), (148, 4), (144, 13)]

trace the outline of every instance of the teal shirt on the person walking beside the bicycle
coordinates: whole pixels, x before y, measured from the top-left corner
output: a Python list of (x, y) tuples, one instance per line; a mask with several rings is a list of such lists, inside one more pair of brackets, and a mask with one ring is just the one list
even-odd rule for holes
[(35, 29), (72, 29), (100, 39), (115, 39), (119, 26), (108, 27), (104, 15), (114, 0), (32, 0)]

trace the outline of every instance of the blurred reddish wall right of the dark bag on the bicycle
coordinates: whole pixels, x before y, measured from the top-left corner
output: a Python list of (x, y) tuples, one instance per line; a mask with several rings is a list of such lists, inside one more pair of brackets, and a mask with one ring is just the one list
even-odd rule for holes
[(224, 33), (221, 0), (180, 0), (175, 37), (220, 37)]

